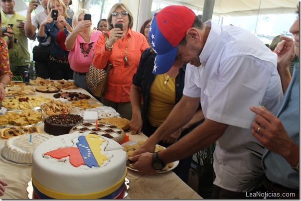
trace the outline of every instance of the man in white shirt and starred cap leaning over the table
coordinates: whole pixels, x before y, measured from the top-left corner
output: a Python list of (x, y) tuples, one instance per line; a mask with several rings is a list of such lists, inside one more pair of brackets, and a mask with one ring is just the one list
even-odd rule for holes
[[(204, 24), (194, 12), (171, 5), (155, 13), (149, 32), (156, 52), (154, 74), (174, 62), (187, 64), (183, 97), (156, 132), (130, 160), (142, 174), (182, 159), (212, 143), (213, 199), (248, 198), (262, 187), (263, 146), (252, 136), (255, 114), (263, 105), (274, 114), (283, 98), (277, 55), (250, 32), (211, 20)], [(201, 102), (205, 121), (167, 149), (153, 154), (155, 144), (187, 123)], [(163, 166), (164, 167), (164, 166)]]

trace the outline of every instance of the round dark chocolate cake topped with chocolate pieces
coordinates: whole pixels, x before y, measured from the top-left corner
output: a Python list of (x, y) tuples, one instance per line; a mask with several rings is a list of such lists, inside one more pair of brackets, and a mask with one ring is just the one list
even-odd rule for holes
[(44, 131), (52, 135), (69, 133), (70, 129), (83, 122), (83, 117), (78, 114), (58, 114), (45, 119)]

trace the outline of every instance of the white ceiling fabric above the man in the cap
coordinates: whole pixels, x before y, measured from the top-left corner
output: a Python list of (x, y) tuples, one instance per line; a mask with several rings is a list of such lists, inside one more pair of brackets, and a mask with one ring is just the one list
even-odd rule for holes
[[(161, 0), (162, 3), (182, 4), (192, 9), (203, 10), (204, 0)], [(172, 3), (173, 2), (173, 3)], [(298, 0), (215, 0), (213, 14), (241, 16), (259, 14), (294, 13)], [(260, 8), (260, 11), (258, 12)]]

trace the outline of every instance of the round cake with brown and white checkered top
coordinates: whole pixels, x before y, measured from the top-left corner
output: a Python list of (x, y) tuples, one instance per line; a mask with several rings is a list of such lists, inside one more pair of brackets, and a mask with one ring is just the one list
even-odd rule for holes
[(117, 127), (116, 125), (98, 122), (97, 127), (98, 128), (96, 130), (95, 122), (80, 123), (71, 128), (69, 133), (73, 133), (76, 131), (80, 133), (92, 133), (96, 135), (102, 135), (109, 139), (115, 140), (118, 143), (122, 142), (123, 138), (125, 137), (125, 132), (123, 131), (123, 129)]

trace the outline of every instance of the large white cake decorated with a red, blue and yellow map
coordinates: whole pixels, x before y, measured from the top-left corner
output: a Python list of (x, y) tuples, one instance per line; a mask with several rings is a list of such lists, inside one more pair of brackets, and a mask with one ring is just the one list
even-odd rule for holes
[(103, 198), (121, 191), (126, 174), (123, 147), (95, 134), (56, 136), (32, 155), (32, 184), (39, 198)]

